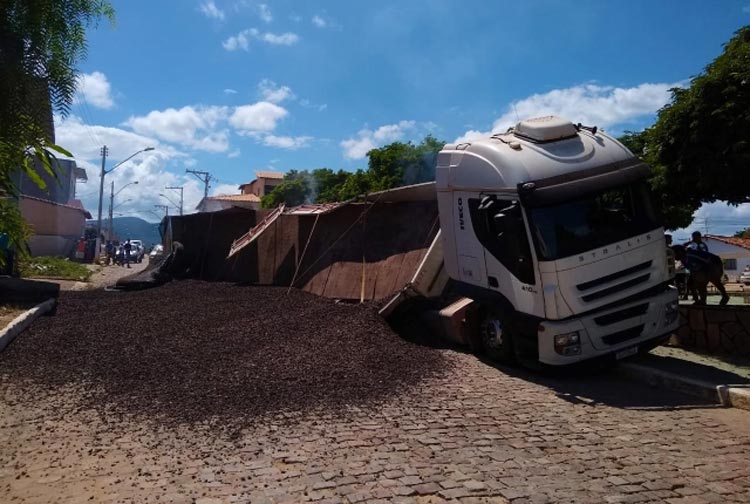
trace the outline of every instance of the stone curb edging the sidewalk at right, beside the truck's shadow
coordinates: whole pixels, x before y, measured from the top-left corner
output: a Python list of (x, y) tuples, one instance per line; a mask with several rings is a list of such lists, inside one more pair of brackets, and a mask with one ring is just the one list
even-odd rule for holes
[(634, 362), (621, 362), (617, 369), (623, 376), (649, 385), (750, 411), (750, 385), (716, 385)]

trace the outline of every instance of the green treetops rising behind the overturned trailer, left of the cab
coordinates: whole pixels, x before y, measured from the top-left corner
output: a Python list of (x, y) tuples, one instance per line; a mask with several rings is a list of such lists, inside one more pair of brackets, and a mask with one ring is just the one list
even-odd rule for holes
[(281, 184), (263, 196), (261, 206), (274, 208), (281, 203), (295, 206), (346, 201), (368, 192), (435, 180), (435, 161), (444, 144), (427, 136), (417, 145), (394, 142), (373, 149), (367, 153), (367, 170), (292, 170)]

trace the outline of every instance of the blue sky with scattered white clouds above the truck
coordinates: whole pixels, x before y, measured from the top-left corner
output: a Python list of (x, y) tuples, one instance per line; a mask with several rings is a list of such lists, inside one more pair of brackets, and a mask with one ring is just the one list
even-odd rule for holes
[[(107, 176), (116, 189), (139, 180), (117, 211), (149, 220), (166, 185), (197, 204), (186, 168), (209, 171), (212, 194), (234, 193), (258, 169), (354, 170), (392, 141), (454, 141), (535, 115), (641, 129), (750, 23), (750, 0), (112, 3), (116, 25), (89, 31), (57, 141), (88, 169), (78, 190), (93, 213), (101, 145), (108, 167), (156, 147)], [(732, 230), (750, 217), (714, 211)]]

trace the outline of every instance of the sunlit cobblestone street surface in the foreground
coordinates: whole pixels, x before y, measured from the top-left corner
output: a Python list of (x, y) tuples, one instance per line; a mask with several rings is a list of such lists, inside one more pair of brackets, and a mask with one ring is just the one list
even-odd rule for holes
[(612, 375), (454, 370), (372, 408), (240, 431), (0, 386), (2, 502), (748, 502), (750, 414)]

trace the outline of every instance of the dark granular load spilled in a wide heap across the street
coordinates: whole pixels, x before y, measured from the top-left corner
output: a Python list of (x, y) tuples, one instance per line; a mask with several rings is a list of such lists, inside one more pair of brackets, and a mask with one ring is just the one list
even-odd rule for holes
[(82, 384), (87, 406), (177, 422), (374, 404), (446, 367), (369, 306), (198, 281), (64, 293), (0, 354), (2, 380)]

